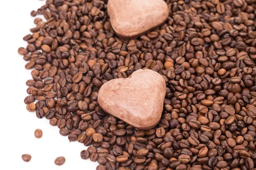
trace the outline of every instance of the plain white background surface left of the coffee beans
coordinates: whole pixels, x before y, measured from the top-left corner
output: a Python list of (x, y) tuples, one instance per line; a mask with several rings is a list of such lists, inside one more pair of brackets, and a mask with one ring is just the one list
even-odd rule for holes
[[(25, 83), (32, 77), (17, 49), (26, 47), (23, 37), (35, 27), (30, 12), (44, 4), (45, 0), (0, 3), (0, 170), (95, 170), (97, 162), (80, 157), (87, 147), (69, 142), (67, 136), (59, 134), (58, 127), (49, 125), (49, 120), (28, 112), (23, 102), (28, 95)], [(38, 128), (43, 131), (41, 139), (34, 137)], [(30, 162), (21, 159), (24, 153), (32, 156)], [(66, 158), (64, 165), (54, 164), (58, 156)]]

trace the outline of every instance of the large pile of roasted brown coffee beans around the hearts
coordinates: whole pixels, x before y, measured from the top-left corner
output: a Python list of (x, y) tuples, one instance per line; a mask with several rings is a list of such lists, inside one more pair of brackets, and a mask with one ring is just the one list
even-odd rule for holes
[[(166, 3), (166, 23), (133, 40), (111, 28), (107, 0), (47, 0), (32, 11), (46, 21), (36, 18), (27, 47), (18, 49), (25, 68), (34, 68), (27, 110), (70, 142), (92, 145), (81, 158), (97, 161), (97, 170), (252, 170), (255, 0)], [(102, 84), (141, 68), (157, 71), (167, 86), (162, 119), (147, 131), (97, 102)]]

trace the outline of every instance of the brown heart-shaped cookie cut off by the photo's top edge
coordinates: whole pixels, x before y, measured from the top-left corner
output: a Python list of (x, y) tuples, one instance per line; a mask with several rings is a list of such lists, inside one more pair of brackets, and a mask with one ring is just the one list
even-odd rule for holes
[(121, 37), (136, 37), (163, 24), (169, 9), (163, 0), (108, 0), (112, 28)]

